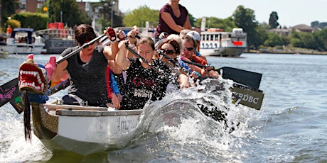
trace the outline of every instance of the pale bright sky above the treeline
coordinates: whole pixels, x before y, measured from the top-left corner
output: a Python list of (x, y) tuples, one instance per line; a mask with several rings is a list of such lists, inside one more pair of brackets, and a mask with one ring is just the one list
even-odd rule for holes
[[(81, 1), (81, 0), (77, 0)], [(82, 0), (100, 1), (100, 0)], [(132, 11), (139, 6), (150, 9), (161, 9), (169, 0), (119, 0), (119, 10)], [(270, 13), (277, 12), (279, 24), (291, 27), (299, 24), (311, 25), (312, 21), (327, 22), (327, 0), (180, 0), (188, 12), (195, 18), (216, 17), (227, 18), (242, 5), (252, 9), (259, 23), (268, 23)]]

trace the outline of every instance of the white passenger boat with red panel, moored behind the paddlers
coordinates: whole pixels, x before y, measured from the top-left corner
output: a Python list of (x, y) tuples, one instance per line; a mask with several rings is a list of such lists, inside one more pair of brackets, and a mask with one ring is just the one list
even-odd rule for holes
[(207, 30), (201, 32), (200, 53), (220, 57), (240, 56), (247, 48), (247, 33), (242, 28), (232, 32)]

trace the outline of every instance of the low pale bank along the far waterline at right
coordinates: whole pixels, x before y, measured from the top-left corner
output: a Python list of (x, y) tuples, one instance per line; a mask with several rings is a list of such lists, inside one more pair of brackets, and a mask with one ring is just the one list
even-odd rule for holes
[(296, 54), (296, 55), (327, 55), (327, 52), (319, 52), (317, 50), (304, 49), (298, 47), (266, 47), (259, 50), (246, 50), (245, 53), (272, 53), (272, 54)]

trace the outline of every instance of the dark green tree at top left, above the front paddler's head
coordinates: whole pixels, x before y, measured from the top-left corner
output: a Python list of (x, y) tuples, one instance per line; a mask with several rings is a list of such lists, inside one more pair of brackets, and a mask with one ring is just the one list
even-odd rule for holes
[(86, 13), (80, 11), (75, 0), (49, 0), (48, 12), (50, 22), (60, 22), (60, 16), (62, 16), (63, 23), (68, 26), (81, 23), (91, 24), (92, 21)]

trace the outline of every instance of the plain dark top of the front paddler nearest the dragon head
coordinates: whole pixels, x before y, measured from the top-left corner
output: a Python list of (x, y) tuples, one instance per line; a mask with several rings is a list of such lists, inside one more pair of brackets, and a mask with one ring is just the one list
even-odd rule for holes
[[(61, 54), (62, 57), (73, 52), (78, 47), (69, 47)], [(103, 55), (103, 46), (95, 47), (90, 62), (80, 64), (77, 53), (67, 59), (67, 70), (70, 75), (68, 94), (75, 94), (90, 106), (101, 106), (108, 103), (106, 88), (107, 59)]]

